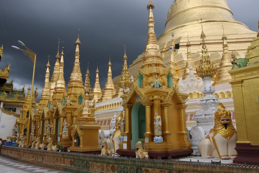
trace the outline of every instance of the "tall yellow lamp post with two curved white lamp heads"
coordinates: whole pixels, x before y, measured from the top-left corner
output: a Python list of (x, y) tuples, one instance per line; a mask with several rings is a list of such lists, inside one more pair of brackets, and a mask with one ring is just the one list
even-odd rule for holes
[(36, 53), (31, 51), (25, 44), (21, 41), (17, 41), (21, 46), (24, 46), (26, 50), (22, 50), (19, 47), (12, 46), (12, 48), (21, 50), (26, 56), (28, 56), (33, 62), (33, 73), (32, 73), (32, 90), (31, 90), (31, 98), (30, 98), (30, 107), (29, 107), (29, 117), (28, 117), (28, 127), (27, 127), (27, 134), (26, 134), (26, 148), (29, 147), (29, 140), (31, 134), (31, 110), (32, 110), (32, 96), (33, 96), (33, 84), (34, 84), (34, 74), (35, 74), (35, 63), (36, 63)]

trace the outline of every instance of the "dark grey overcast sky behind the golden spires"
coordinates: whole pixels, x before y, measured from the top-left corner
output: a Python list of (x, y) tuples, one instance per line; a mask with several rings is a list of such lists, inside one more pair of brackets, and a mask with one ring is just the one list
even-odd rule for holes
[[(112, 75), (115, 77), (121, 73), (124, 41), (128, 65), (143, 52), (146, 44), (148, 0), (0, 0), (0, 2), (3, 9), (2, 11), (0, 8), (0, 44), (4, 44), (0, 68), (11, 63), (9, 81), (14, 80), (16, 88), (25, 85), (27, 89), (32, 80), (33, 63), (21, 51), (11, 48), (12, 45), (22, 48), (17, 40), (23, 41), (37, 53), (34, 84), (38, 85), (39, 97), (44, 85), (48, 56), (51, 64), (50, 73), (53, 72), (59, 39), (60, 47), (64, 41), (64, 78), (66, 85), (68, 84), (75, 60), (78, 28), (81, 40), (81, 72), (84, 78), (89, 61), (92, 87), (95, 82), (97, 62), (100, 84), (103, 88), (107, 80), (109, 54), (111, 54)], [(259, 1), (228, 0), (228, 2), (235, 19), (258, 32)], [(153, 0), (153, 3), (155, 32), (158, 37), (164, 30), (166, 15), (173, 0)]]

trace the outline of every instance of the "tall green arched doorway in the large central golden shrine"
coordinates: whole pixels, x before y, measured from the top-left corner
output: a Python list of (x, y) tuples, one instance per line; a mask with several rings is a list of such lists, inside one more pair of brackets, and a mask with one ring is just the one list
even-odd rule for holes
[(145, 138), (144, 133), (146, 133), (146, 111), (145, 106), (141, 102), (136, 102), (132, 108), (131, 113), (131, 124), (132, 124), (132, 140), (131, 148), (136, 149), (135, 144), (138, 141)]

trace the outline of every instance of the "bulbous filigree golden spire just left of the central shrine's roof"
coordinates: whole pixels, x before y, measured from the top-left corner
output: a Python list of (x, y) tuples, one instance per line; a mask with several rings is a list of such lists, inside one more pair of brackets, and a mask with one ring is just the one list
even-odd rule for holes
[(127, 65), (127, 55), (126, 55), (126, 46), (124, 44), (124, 56), (123, 56), (123, 60), (124, 60), (124, 65), (121, 71), (121, 75), (119, 78), (119, 82), (118, 82), (118, 86), (120, 88), (130, 88), (130, 86), (132, 85), (132, 80), (130, 78), (130, 74), (128, 71), (128, 65)]

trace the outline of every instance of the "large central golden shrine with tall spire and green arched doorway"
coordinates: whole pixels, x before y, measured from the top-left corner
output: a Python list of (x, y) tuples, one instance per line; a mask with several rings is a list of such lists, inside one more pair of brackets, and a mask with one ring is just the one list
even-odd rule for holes
[[(129, 153), (135, 149), (135, 143), (145, 138), (143, 148), (148, 151), (150, 157), (169, 158), (175, 156), (174, 150), (181, 150), (181, 154), (188, 155), (192, 153), (191, 143), (187, 141), (186, 136), (185, 108), (187, 106), (184, 100), (188, 95), (179, 93), (173, 83), (174, 75), (171, 69), (165, 69), (155, 36), (154, 4), (151, 0), (147, 9), (149, 11), (148, 38), (143, 64), (140, 65), (139, 72), (135, 76), (137, 80), (130, 87), (130, 92), (120, 96), (124, 100), (122, 106), (125, 111), (125, 132), (121, 134), (124, 141), (119, 144), (120, 149), (117, 153), (130, 156)], [(125, 65), (123, 68), (126, 71)], [(121, 74), (121, 76), (123, 78), (124, 75)], [(157, 117), (163, 117), (160, 126), (161, 134), (159, 134), (163, 142), (160, 143), (157, 143), (154, 138), (157, 137), (157, 127), (154, 127), (154, 122), (157, 121), (155, 114), (158, 114)], [(135, 151), (132, 155), (135, 155)]]

